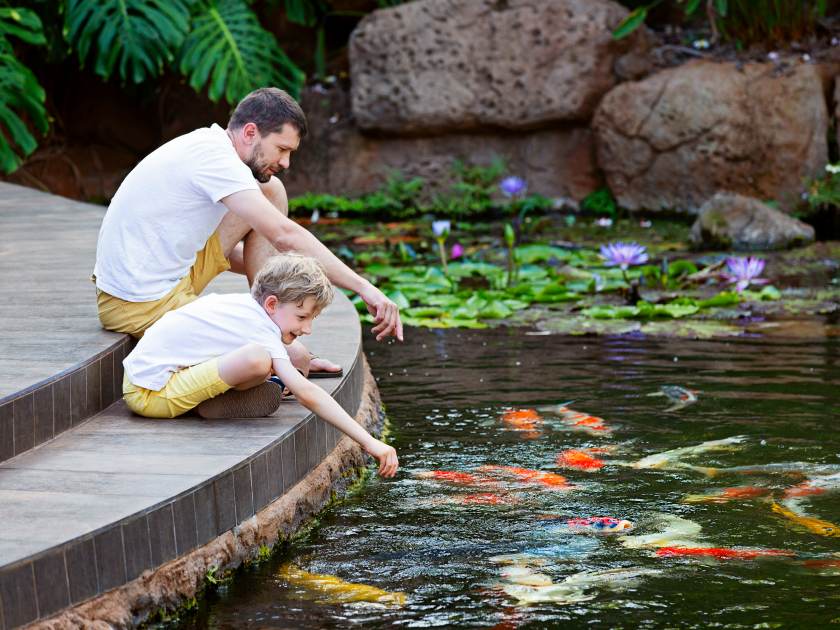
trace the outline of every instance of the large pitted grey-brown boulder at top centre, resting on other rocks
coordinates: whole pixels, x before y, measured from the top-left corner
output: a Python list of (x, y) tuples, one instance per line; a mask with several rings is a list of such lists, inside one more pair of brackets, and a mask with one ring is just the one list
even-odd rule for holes
[(587, 121), (617, 82), (619, 56), (645, 45), (642, 31), (612, 38), (626, 15), (611, 0), (418, 0), (374, 11), (350, 39), (356, 122), (416, 133)]

